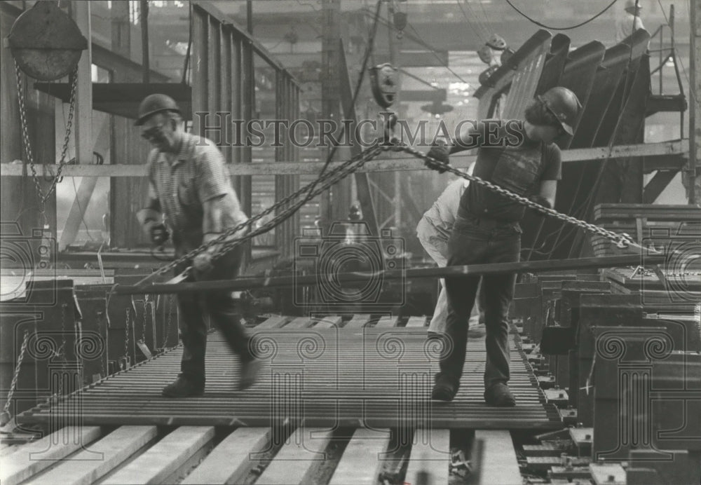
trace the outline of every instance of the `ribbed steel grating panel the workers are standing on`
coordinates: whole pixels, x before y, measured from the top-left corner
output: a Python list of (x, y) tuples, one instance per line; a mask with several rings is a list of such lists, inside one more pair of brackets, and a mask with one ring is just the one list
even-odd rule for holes
[[(137, 364), (53, 403), (18, 416), (20, 423), (77, 418), (84, 425), (410, 426), (416, 428), (551, 429), (562, 424), (545, 404), (524, 354), (511, 341), (515, 408), (482, 399), (484, 339), (468, 342), (454, 402), (430, 399), (438, 369), (425, 329), (275, 329), (254, 332), (268, 366), (259, 383), (239, 392), (238, 360), (217, 333), (207, 348), (203, 397), (167, 399), (163, 385), (179, 371), (182, 348)], [(512, 338), (517, 338), (513, 336)]]

